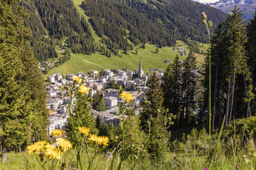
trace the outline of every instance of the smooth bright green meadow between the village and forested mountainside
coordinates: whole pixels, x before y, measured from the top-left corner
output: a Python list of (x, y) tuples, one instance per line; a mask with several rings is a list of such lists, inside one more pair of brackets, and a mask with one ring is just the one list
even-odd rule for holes
[[(185, 49), (188, 47), (185, 46)], [(171, 47), (162, 47), (159, 49), (159, 53), (156, 53), (156, 46), (146, 45), (145, 49), (138, 49), (138, 54), (131, 51), (129, 55), (122, 53), (120, 56), (112, 55), (111, 58), (100, 53), (93, 53), (92, 55), (84, 55), (81, 53), (72, 53), (71, 59), (50, 70), (45, 77), (52, 75), (53, 73), (78, 73), (83, 71), (87, 73), (89, 70), (95, 69), (100, 71), (101, 69), (122, 69), (127, 68), (130, 70), (137, 70), (140, 62), (140, 56), (142, 58), (142, 69), (148, 72), (151, 68), (157, 68), (164, 70), (168, 63), (165, 60), (174, 60), (178, 55), (177, 51), (173, 51)], [(204, 62), (205, 56), (196, 53), (195, 54), (198, 64), (201, 65)], [(180, 60), (183, 60), (184, 56), (180, 56)]]

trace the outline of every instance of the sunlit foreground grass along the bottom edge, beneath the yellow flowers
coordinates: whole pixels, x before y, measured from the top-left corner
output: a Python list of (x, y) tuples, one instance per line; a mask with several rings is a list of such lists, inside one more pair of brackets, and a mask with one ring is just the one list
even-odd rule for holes
[[(73, 151), (72, 151), (73, 152)], [(66, 169), (72, 169), (76, 167), (76, 158), (74, 153), (67, 154), (65, 164)], [(195, 151), (196, 152), (196, 151)], [(177, 156), (177, 160), (173, 160), (173, 156)], [(1, 157), (0, 157), (1, 158)], [(28, 167), (26, 166), (25, 158), (28, 160)], [(18, 169), (41, 169), (36, 161), (35, 156), (25, 154), (8, 154), (8, 162), (0, 162), (0, 170), (18, 170)], [(83, 166), (87, 166), (87, 156), (82, 155)], [(149, 158), (142, 158), (138, 162), (136, 169), (191, 169), (191, 170), (204, 170), (209, 168), (209, 157), (207, 155), (196, 155), (196, 154), (175, 154), (173, 152), (164, 155), (158, 160), (149, 160)], [(242, 156), (237, 154), (237, 156), (224, 156), (218, 155), (217, 160), (215, 160), (212, 170), (235, 170), (235, 165), (239, 165), (239, 169), (253, 170), (255, 169), (254, 160), (250, 160), (247, 164), (242, 160)], [(122, 169), (131, 169), (132, 161), (126, 160), (122, 166)], [(96, 157), (92, 169), (105, 170), (110, 165), (110, 160), (107, 160), (104, 154), (100, 154)], [(117, 168), (117, 164), (114, 169)], [(55, 169), (60, 169), (60, 164), (56, 165)], [(209, 169), (210, 170), (210, 169)]]

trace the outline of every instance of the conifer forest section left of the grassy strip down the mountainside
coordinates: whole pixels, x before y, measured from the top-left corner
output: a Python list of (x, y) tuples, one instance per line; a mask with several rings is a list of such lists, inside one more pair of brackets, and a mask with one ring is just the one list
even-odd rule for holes
[(92, 53), (92, 34), (72, 1), (23, 0), (22, 5), (30, 15), (25, 26), (32, 31), (32, 47), (38, 60), (56, 57), (55, 46), (61, 38), (66, 38), (68, 47), (79, 53)]

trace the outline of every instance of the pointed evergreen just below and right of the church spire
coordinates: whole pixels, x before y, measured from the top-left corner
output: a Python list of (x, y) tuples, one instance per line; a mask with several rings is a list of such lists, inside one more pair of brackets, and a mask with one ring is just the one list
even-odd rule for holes
[(149, 89), (145, 92), (147, 100), (142, 103), (140, 125), (146, 134), (149, 134), (149, 145), (147, 149), (152, 156), (160, 156), (167, 149), (169, 135), (165, 127), (166, 111), (162, 103), (163, 93), (160, 80), (156, 73), (147, 81)]

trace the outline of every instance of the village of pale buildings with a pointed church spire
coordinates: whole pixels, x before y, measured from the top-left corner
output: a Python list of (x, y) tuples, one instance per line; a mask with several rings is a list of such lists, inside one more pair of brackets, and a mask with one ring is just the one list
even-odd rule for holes
[[(158, 77), (164, 75), (164, 71), (158, 69), (151, 69), (150, 71), (156, 72)], [(46, 86), (47, 90), (47, 107), (50, 110), (48, 132), (55, 129), (65, 129), (65, 124), (68, 118), (67, 102), (70, 98), (67, 97), (66, 90), (60, 90), (61, 86), (72, 86), (74, 74), (68, 74), (63, 77), (61, 73), (53, 74), (47, 77), (49, 85)], [(135, 98), (136, 114), (140, 113), (140, 102), (145, 98), (145, 90), (147, 90), (146, 82), (151, 76), (145, 74), (142, 70), (142, 60), (140, 58), (140, 65), (137, 71), (129, 71), (126, 69), (111, 71), (109, 69), (103, 70), (103, 75), (100, 76), (98, 71), (89, 71), (88, 75), (79, 72), (78, 77), (85, 80), (85, 86), (89, 88), (89, 97), (93, 97), (97, 91), (103, 93), (105, 98), (106, 111), (99, 112), (93, 110), (94, 118), (100, 117), (105, 123), (113, 123), (118, 126), (120, 117), (118, 115), (118, 89), (109, 88), (110, 82), (125, 87), (127, 92), (131, 93)], [(64, 103), (64, 99), (66, 103)], [(73, 102), (73, 101), (72, 101)], [(122, 102), (122, 99), (120, 100)]]

